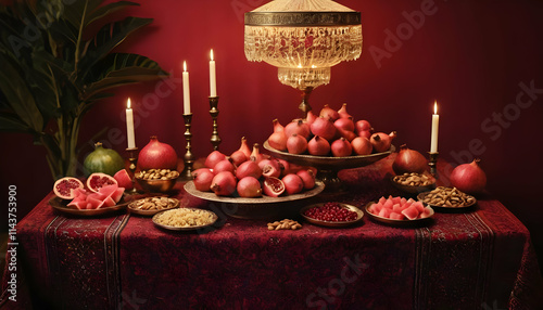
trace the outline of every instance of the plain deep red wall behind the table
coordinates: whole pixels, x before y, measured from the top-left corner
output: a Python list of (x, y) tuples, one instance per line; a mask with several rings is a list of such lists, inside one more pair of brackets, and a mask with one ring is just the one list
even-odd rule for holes
[[(182, 156), (182, 61), (190, 72), (193, 152), (205, 156), (212, 150), (207, 101), (212, 48), (220, 96), (220, 151), (237, 150), (243, 135), (251, 143), (262, 143), (272, 132), (274, 118), (286, 124), (299, 116), (298, 91), (277, 80), (275, 67), (250, 63), (243, 53), (242, 14), (266, 1), (140, 2), (128, 14), (154, 22), (121, 50), (150, 56), (172, 78), (127, 87), (98, 104), (83, 124), (80, 141), (86, 147), (81, 156), (91, 150), (90, 137), (103, 127), (110, 135), (102, 141), (125, 154), (127, 96), (136, 114), (136, 144), (142, 147), (156, 134)], [(356, 119), (370, 120), (379, 131), (396, 130), (396, 146), (407, 143), (426, 153), (432, 105), (438, 100), (441, 156), (455, 164), (480, 157), (488, 190), (531, 230), (542, 257), (543, 207), (538, 195), (543, 175), (539, 165), (543, 2), (340, 2), (362, 12), (363, 55), (333, 67), (331, 82), (312, 94), (312, 106), (318, 111), (324, 104), (339, 108), (348, 103)], [(2, 133), (0, 138), (0, 192), (5, 197), (10, 184), (17, 186), (22, 218), (50, 191), (52, 180), (45, 153), (28, 137)], [(7, 206), (7, 198), (2, 202)], [(5, 227), (7, 220), (0, 224)]]

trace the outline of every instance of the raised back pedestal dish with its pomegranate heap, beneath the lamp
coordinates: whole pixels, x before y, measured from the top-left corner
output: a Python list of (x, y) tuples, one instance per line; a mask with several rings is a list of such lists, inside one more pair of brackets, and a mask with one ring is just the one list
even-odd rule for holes
[(320, 113), (307, 112), (302, 119), (282, 126), (273, 121), (274, 132), (263, 146), (272, 156), (318, 169), (327, 190), (340, 184), (338, 172), (374, 164), (395, 151), (396, 132), (374, 131), (368, 120), (354, 121), (344, 103), (339, 111), (325, 105)]

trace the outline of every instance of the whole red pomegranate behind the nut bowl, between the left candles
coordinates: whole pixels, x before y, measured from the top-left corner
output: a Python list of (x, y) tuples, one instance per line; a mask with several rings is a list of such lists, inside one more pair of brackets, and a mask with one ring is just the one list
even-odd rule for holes
[(151, 137), (149, 143), (141, 148), (138, 155), (138, 167), (148, 169), (176, 169), (177, 153), (169, 144), (159, 141), (156, 135)]

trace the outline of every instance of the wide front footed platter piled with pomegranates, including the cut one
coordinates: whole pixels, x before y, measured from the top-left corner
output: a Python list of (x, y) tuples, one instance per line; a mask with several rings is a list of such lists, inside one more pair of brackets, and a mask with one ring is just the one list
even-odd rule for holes
[(290, 165), (250, 150), (245, 138), (240, 148), (227, 156), (219, 151), (207, 155), (204, 168), (192, 171), (185, 191), (198, 198), (224, 206), (238, 218), (267, 218), (278, 212), (298, 212), (295, 202), (318, 195), (325, 184), (316, 169)]

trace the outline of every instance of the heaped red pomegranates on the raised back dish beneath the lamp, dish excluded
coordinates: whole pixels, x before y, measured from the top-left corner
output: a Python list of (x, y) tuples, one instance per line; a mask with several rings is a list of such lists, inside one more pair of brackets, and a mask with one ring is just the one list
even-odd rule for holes
[(310, 111), (305, 119), (294, 119), (287, 126), (274, 119), (274, 132), (267, 141), (278, 151), (315, 156), (345, 157), (389, 151), (396, 132), (372, 131), (369, 121), (355, 122), (343, 103), (339, 111), (328, 105), (319, 115)]

